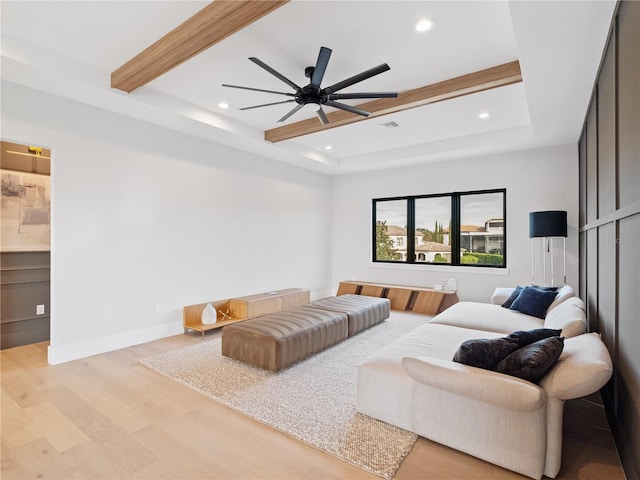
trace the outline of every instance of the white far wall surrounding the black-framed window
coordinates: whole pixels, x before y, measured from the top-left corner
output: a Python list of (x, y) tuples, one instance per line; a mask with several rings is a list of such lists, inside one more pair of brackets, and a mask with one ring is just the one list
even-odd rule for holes
[[(506, 270), (371, 262), (373, 198), (492, 188), (507, 189)], [(341, 280), (433, 286), (440, 283), (441, 278), (455, 278), (460, 299), (486, 302), (496, 287), (531, 282), (529, 212), (537, 210), (567, 210), (567, 283), (577, 288), (578, 152), (575, 145), (336, 177), (333, 287)], [(561, 240), (554, 242), (561, 248)], [(536, 245), (541, 249), (540, 243)], [(557, 284), (562, 271), (561, 255), (556, 255), (554, 263)], [(541, 274), (537, 280), (536, 283), (542, 283)]]

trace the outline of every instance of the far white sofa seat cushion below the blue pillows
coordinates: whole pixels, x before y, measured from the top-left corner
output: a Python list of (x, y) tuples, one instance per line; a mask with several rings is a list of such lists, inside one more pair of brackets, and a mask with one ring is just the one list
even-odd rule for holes
[[(478, 302), (458, 302), (436, 315), (429, 323), (496, 332), (508, 335), (516, 330), (543, 328), (544, 320), (502, 308), (500, 305)], [(554, 328), (554, 327), (547, 327)], [(480, 335), (476, 338), (486, 338)]]

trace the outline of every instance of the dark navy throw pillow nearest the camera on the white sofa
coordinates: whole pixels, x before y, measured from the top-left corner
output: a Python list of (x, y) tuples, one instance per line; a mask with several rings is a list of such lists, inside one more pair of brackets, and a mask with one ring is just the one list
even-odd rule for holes
[(564, 338), (545, 338), (519, 348), (498, 363), (496, 370), (535, 383), (558, 360), (563, 348)]

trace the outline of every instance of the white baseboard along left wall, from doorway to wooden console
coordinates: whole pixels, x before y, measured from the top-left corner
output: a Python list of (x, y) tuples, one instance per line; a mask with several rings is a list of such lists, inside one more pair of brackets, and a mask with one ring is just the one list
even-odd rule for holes
[(170, 337), (183, 333), (182, 323), (165, 323), (150, 328), (131, 330), (106, 337), (99, 337), (71, 345), (50, 345), (48, 349), (48, 362), (51, 365), (70, 362), (80, 358), (90, 357), (99, 353), (111, 352), (121, 348), (151, 342), (160, 338)]

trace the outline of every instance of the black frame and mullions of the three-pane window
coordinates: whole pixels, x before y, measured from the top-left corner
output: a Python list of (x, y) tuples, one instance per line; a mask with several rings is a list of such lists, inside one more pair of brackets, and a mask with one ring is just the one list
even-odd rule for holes
[[(502, 194), (502, 241), (503, 241), (503, 264), (502, 265), (481, 265), (481, 264), (463, 264), (460, 255), (460, 221), (461, 221), (461, 199), (467, 195), (483, 195), (483, 194)], [(451, 229), (449, 235), (451, 238), (451, 263), (429, 263), (418, 262), (415, 258), (415, 201), (422, 198), (450, 197), (451, 198)], [(407, 259), (406, 260), (378, 260), (376, 258), (376, 222), (377, 222), (377, 204), (378, 202), (388, 202), (395, 200), (406, 200), (407, 202)], [(385, 197), (374, 198), (371, 201), (372, 210), (372, 251), (371, 260), (374, 263), (392, 263), (398, 265), (426, 265), (426, 266), (445, 266), (445, 267), (474, 267), (474, 268), (507, 268), (507, 189), (494, 188), (489, 190), (472, 190), (468, 192), (450, 192), (450, 193), (434, 193), (426, 195), (407, 195), (401, 197)], [(487, 219), (491, 220), (491, 219)]]

